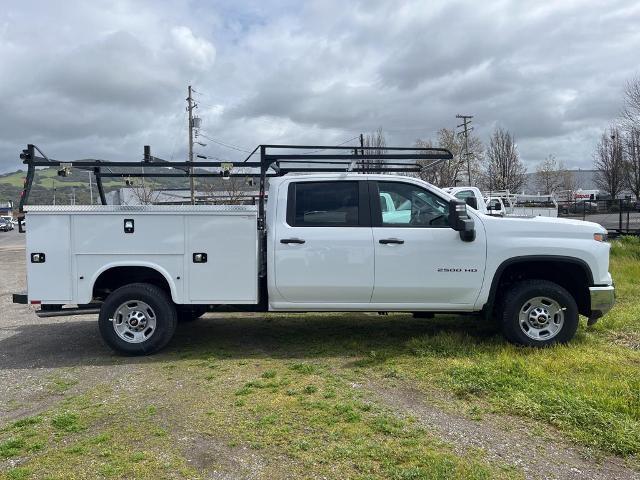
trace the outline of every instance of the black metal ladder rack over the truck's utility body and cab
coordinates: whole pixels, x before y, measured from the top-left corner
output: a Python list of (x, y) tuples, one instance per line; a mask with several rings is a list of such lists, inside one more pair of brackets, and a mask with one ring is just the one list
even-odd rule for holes
[[(37, 153), (36, 153), (37, 152)], [(326, 152), (326, 153), (320, 153)], [(258, 155), (259, 160), (251, 161)], [(424, 147), (366, 147), (328, 145), (258, 145), (242, 162), (210, 161), (170, 162), (151, 155), (145, 146), (142, 160), (56, 160), (47, 157), (36, 145), (29, 144), (20, 158), (27, 165), (27, 176), (20, 197), (19, 212), (24, 218), (24, 206), (28, 203), (37, 167), (60, 167), (64, 171), (77, 168), (92, 172), (95, 178), (100, 202), (107, 204), (103, 178), (215, 178), (215, 177), (256, 177), (260, 179), (258, 197), (258, 219), (264, 225), (264, 203), (266, 178), (287, 173), (356, 172), (356, 173), (417, 173), (451, 160), (453, 155), (445, 148)], [(144, 167), (160, 167), (169, 171), (143, 171)], [(215, 168), (219, 171), (194, 172), (194, 167)], [(139, 172), (121, 171), (123, 168), (141, 168)], [(120, 170), (120, 171), (119, 171)], [(235, 171), (234, 171), (235, 170)], [(240, 170), (240, 171), (238, 171)]]

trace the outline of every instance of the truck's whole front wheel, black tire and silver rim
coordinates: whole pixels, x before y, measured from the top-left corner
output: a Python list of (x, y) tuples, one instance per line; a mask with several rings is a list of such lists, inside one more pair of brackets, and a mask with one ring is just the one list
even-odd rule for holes
[(544, 347), (573, 338), (578, 329), (578, 306), (560, 285), (525, 280), (506, 293), (499, 318), (502, 333), (510, 342)]

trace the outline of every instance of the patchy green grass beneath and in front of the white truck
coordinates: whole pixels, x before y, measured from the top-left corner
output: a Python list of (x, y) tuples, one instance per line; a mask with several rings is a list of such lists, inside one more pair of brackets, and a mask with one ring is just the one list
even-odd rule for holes
[(640, 452), (637, 239), (613, 243), (611, 270), (615, 309), (593, 327), (583, 322), (569, 345), (540, 350), (509, 345), (469, 317), (230, 314), (181, 325), (166, 352), (127, 367), (134, 373), (122, 380), (126, 388), (114, 382), (72, 396), (67, 377), (49, 377), (58, 403), (0, 430), (0, 465), (15, 462), (0, 478), (200, 478), (213, 470), (521, 477), (394, 414), (371, 395), (376, 385), (422, 392), (479, 421), (520, 416), (532, 434), (633, 464)]

